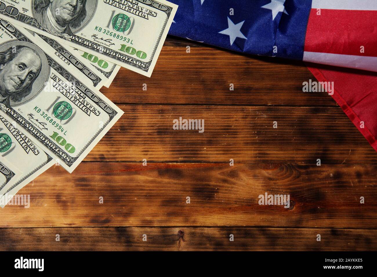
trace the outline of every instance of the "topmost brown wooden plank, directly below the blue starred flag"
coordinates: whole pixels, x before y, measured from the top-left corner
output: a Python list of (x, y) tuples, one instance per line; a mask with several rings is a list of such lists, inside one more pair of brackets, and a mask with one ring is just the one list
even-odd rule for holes
[[(302, 92), (302, 83), (309, 79), (315, 80), (302, 62), (241, 55), (170, 38), (152, 78), (122, 68), (110, 88), (101, 92), (114, 103), (337, 105), (327, 93)], [(231, 83), (234, 91), (229, 90)]]

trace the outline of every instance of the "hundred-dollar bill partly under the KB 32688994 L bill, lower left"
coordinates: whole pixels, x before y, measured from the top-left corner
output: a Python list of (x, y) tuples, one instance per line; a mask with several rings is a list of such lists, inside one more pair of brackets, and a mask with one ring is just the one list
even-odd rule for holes
[[(22, 173), (16, 174), (12, 182), (0, 185), (0, 207), (25, 185), (50, 168), (54, 159), (37, 147), (22, 128), (0, 111), (0, 158), (6, 159)], [(14, 169), (13, 169), (14, 170)], [(5, 173), (9, 172), (6, 170)]]

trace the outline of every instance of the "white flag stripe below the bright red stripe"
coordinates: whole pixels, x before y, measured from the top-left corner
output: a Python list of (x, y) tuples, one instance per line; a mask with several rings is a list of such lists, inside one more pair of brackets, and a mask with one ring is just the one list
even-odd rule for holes
[(356, 55), (304, 52), (303, 61), (329, 64), (332, 66), (351, 67), (377, 72), (377, 57)]

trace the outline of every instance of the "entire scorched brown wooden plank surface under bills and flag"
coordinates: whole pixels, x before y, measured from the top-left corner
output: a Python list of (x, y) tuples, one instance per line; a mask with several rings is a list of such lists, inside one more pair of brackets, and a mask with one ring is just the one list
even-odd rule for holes
[[(121, 69), (101, 90), (124, 115), (74, 173), (50, 168), (19, 192), (30, 208), (0, 211), (0, 250), (377, 250), (377, 153), (309, 79), (168, 37), (152, 78)], [(180, 116), (205, 132), (173, 130)]]

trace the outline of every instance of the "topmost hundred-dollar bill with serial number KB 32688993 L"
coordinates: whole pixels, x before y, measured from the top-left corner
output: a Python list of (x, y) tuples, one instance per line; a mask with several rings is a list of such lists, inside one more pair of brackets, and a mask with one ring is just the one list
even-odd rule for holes
[(2, 0), (0, 16), (150, 77), (177, 8), (165, 0)]

